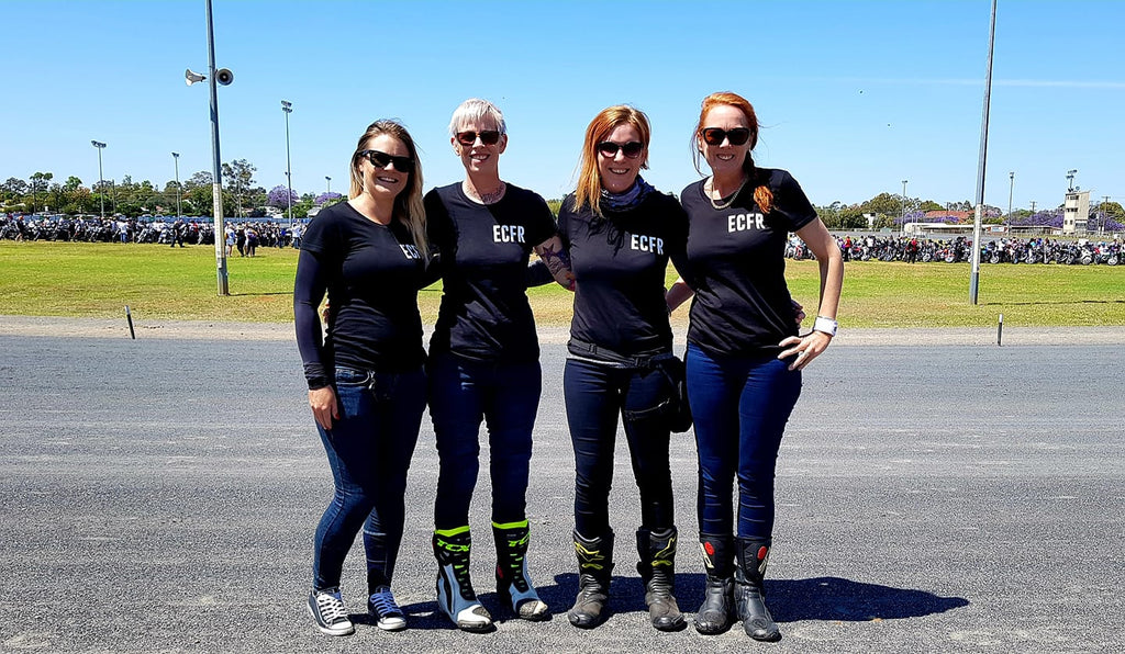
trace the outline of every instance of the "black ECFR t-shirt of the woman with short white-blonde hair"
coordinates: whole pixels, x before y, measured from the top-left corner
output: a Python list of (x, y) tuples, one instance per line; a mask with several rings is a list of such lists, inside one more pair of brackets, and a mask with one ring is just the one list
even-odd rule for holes
[(474, 202), (460, 182), (425, 194), (430, 242), (441, 253), (443, 292), (430, 353), (474, 361), (539, 358), (528, 303), (534, 246), (555, 236), (555, 217), (537, 193), (507, 184), (494, 205)]

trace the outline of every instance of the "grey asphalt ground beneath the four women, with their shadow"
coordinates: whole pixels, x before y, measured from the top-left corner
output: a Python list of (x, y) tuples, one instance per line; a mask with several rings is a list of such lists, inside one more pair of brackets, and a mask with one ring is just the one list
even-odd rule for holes
[[(806, 372), (777, 465), (767, 590), (784, 639), (663, 634), (632, 565), (638, 500), (623, 438), (611, 514), (613, 615), (579, 630), (565, 348), (543, 345), (529, 562), (554, 619), (500, 609), (488, 480), (472, 505), (490, 634), (435, 615), (438, 462), (429, 418), (410, 473), (398, 634), (305, 612), (331, 496), (289, 338), (90, 338), (0, 329), (0, 650), (38, 652), (1120, 652), (1125, 365), (1116, 344), (858, 344)], [(1066, 339), (1064, 339), (1066, 340)], [(878, 342), (878, 340), (876, 340)], [(1070, 342), (1082, 342), (1081, 338)], [(863, 343), (857, 340), (857, 343)], [(485, 446), (483, 456), (487, 456)], [(674, 436), (677, 591), (703, 575), (692, 436)]]

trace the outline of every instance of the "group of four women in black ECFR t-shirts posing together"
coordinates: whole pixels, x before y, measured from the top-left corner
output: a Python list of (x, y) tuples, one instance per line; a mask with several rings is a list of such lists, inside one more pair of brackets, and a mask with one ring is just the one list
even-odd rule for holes
[[(379, 125), (395, 124), (380, 121), (372, 129)], [(416, 290), (438, 274), (444, 294), (426, 366), (441, 460), (433, 536), (438, 605), (462, 629), (492, 628), (468, 573), (468, 510), (484, 421), (497, 594), (521, 618), (548, 617), (525, 564), (524, 497), (541, 388), (525, 294), (534, 249), (556, 281), (570, 287), (577, 280), (562, 382), (575, 451), (580, 587), (569, 620), (593, 627), (605, 618), (613, 569), (608, 505), (620, 415), (640, 492), (637, 567), (650, 620), (663, 630), (685, 624), (674, 597), (677, 529), (667, 427), (674, 388), (664, 366), (674, 360), (668, 311), (694, 291), (686, 363), (708, 572), (696, 628), (719, 633), (737, 616), (752, 637), (776, 639), (762, 582), (772, 537), (774, 464), (800, 393), (800, 370), (835, 333), (843, 266), (796, 182), (784, 171), (754, 166), (753, 107), (734, 93), (704, 100), (694, 139), (712, 174), (684, 190), (683, 206), (639, 175), (647, 167), (647, 117), (631, 107), (604, 109), (586, 129), (578, 185), (562, 201), (557, 234), (539, 196), (500, 178), (507, 134), (498, 109), (484, 100), (466, 101), (453, 113), (450, 133), (466, 179), (425, 198), (430, 244), (440, 253), (429, 274), (431, 245), (422, 237), (424, 218), (414, 201), (421, 171), (405, 130), (369, 129), (353, 156), (353, 199), (313, 221), (300, 255), (298, 340), (309, 403), (336, 484), (317, 529), (309, 610), (318, 627), (334, 635), (352, 630), (339, 576), (343, 554), (364, 520), (369, 609), (380, 627), (405, 627), (389, 583), (402, 537), (405, 471), (426, 397)], [(408, 202), (398, 201), (404, 189)], [(387, 227), (397, 257), (390, 247), (380, 254), (364, 243), (371, 237), (357, 216)], [(818, 318), (804, 337), (796, 334), (784, 282), (789, 231), (804, 238), (820, 262)], [(375, 240), (390, 245), (386, 238)], [(362, 256), (352, 253), (357, 247)], [(410, 266), (402, 265), (404, 256)], [(683, 276), (666, 296), (669, 261)], [(325, 288), (331, 311), (322, 345), (315, 307)], [(736, 475), (737, 538), (730, 533)]]

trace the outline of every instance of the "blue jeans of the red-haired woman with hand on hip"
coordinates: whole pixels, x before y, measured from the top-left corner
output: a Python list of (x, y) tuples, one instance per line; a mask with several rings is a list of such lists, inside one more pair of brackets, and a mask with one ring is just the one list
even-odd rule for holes
[(737, 535), (773, 534), (777, 451), (801, 394), (801, 373), (790, 371), (789, 364), (771, 355), (712, 356), (687, 344), (687, 399), (700, 461), (700, 534), (730, 534), (736, 474)]

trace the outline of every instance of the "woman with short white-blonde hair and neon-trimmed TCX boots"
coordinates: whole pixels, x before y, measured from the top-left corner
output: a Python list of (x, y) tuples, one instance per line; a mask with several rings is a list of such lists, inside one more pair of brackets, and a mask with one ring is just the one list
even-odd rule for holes
[[(526, 490), (541, 372), (528, 302), (534, 251), (555, 281), (573, 285), (547, 202), (500, 178), (507, 147), (504, 115), (492, 102), (462, 102), (449, 122), (465, 180), (426, 193), (430, 239), (443, 280), (430, 340), (430, 416), (441, 470), (434, 502), (438, 606), (459, 628), (483, 632), (492, 615), (469, 576), (469, 503), (479, 472), (479, 432), (488, 429), (496, 593), (514, 615), (543, 620), (547, 605), (528, 575)], [(539, 283), (552, 281), (547, 275)]]

